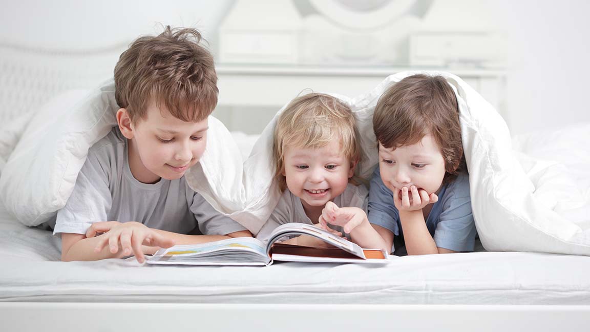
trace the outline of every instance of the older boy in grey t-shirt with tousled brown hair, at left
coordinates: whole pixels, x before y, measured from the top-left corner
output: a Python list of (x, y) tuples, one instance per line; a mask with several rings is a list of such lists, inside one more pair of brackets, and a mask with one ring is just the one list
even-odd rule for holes
[(194, 29), (166, 27), (138, 38), (119, 58), (118, 126), (90, 148), (57, 214), (63, 261), (133, 253), (143, 262), (145, 253), (175, 243), (252, 236), (184, 178), (205, 150), (207, 117), (217, 105), (214, 61), (200, 41)]

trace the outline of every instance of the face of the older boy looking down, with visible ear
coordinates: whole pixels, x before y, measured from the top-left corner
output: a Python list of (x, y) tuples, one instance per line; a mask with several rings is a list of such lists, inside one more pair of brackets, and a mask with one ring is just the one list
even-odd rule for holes
[(131, 166), (132, 153), (141, 161), (139, 167), (132, 169), (133, 175), (148, 183), (159, 178), (181, 178), (205, 151), (208, 120), (185, 122), (168, 110), (160, 113), (155, 103), (150, 103), (146, 115), (131, 125), (135, 146), (129, 152), (129, 163)]

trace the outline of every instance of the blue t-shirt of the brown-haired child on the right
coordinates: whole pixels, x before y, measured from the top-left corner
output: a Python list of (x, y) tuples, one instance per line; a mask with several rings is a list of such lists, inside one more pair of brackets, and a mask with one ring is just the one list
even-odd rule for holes
[[(403, 236), (399, 212), (394, 204), (394, 193), (385, 187), (379, 167), (375, 168), (369, 187), (369, 222)], [(454, 251), (473, 251), (476, 225), (471, 211), (469, 175), (461, 173), (451, 183), (442, 186), (426, 220), (428, 232), (438, 248)]]

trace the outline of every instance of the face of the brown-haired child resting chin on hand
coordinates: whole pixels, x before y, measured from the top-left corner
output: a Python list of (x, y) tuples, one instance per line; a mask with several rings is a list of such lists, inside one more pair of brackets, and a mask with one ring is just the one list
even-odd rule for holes
[[(416, 144), (386, 149), (379, 144), (381, 180), (391, 191), (415, 185), (428, 194), (438, 193), (445, 175), (444, 159), (431, 135)], [(410, 200), (412, 193), (409, 192)]]

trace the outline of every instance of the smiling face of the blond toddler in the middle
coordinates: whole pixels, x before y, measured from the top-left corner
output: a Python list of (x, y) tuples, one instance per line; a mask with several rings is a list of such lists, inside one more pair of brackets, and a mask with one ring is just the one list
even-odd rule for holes
[(283, 175), (304, 206), (324, 206), (346, 189), (354, 165), (341, 150), (337, 141), (321, 148), (285, 148)]

